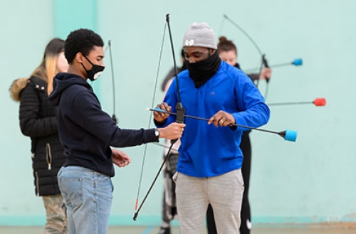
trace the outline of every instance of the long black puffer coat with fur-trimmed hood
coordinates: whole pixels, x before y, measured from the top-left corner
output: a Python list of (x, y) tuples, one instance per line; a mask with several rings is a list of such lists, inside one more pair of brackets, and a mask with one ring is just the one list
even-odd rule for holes
[[(21, 85), (16, 85), (22, 83)], [(21, 132), (31, 137), (31, 154), (34, 184), (37, 196), (61, 193), (57, 173), (65, 161), (63, 147), (58, 137), (55, 108), (49, 104), (47, 83), (31, 77), (27, 83), (16, 80), (11, 86), (11, 96), (20, 98)], [(16, 87), (14, 87), (16, 86)], [(17, 93), (16, 93), (17, 92)]]

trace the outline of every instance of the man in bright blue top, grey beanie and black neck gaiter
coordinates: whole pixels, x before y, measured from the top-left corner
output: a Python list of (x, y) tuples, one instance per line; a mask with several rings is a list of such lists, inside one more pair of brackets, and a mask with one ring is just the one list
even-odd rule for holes
[[(183, 234), (202, 233), (210, 203), (218, 233), (239, 233), (244, 181), (244, 156), (239, 144), (241, 127), (261, 127), (270, 111), (263, 96), (241, 70), (221, 61), (216, 52), (214, 31), (207, 23), (193, 23), (183, 38), (187, 70), (179, 73), (159, 107), (176, 112), (177, 92), (185, 118), (176, 181), (177, 210)], [(174, 115), (154, 112), (157, 127), (175, 121)]]

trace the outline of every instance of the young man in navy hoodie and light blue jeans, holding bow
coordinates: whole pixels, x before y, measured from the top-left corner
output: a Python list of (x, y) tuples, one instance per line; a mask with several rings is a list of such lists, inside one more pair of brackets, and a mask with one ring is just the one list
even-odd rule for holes
[(127, 166), (127, 154), (111, 147), (130, 147), (177, 139), (184, 124), (164, 129), (120, 129), (103, 112), (87, 80), (96, 80), (104, 70), (103, 40), (88, 29), (69, 34), (64, 46), (68, 73), (53, 80), (49, 100), (58, 107), (58, 133), (66, 162), (58, 172), (58, 185), (68, 215), (68, 233), (105, 234), (112, 202), (113, 164)]

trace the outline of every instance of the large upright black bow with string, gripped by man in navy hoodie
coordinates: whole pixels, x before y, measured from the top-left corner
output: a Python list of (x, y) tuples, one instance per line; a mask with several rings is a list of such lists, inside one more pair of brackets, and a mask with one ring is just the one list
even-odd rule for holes
[[(174, 46), (173, 46), (173, 40), (172, 40), (172, 33), (171, 33), (170, 25), (169, 25), (169, 14), (166, 14), (166, 23), (164, 23), (164, 31), (163, 31), (163, 37), (162, 37), (162, 43), (161, 43), (161, 50), (160, 50), (160, 53), (159, 53), (159, 63), (158, 63), (158, 68), (157, 68), (156, 81), (155, 81), (155, 90), (154, 90), (154, 94), (153, 94), (153, 98), (152, 98), (152, 105), (151, 106), (153, 107), (154, 102), (155, 102), (155, 93), (156, 93), (156, 90), (157, 90), (157, 80), (158, 80), (159, 68), (160, 68), (160, 63), (161, 63), (161, 58), (162, 58), (162, 50), (163, 50), (163, 45), (164, 45), (164, 35), (165, 35), (165, 32), (166, 32), (166, 26), (168, 26), (169, 39), (170, 39), (171, 48), (172, 48), (172, 56), (173, 56), (173, 63), (174, 63), (174, 77), (176, 78), (175, 80), (177, 82), (177, 98), (178, 98), (178, 102), (177, 102), (177, 105), (176, 105), (176, 109), (177, 109), (176, 122), (183, 123), (184, 122), (184, 108), (183, 108), (182, 102), (180, 102), (180, 96), (179, 96), (178, 69), (177, 69), (177, 63), (176, 63), (175, 56), (174, 56)], [(152, 122), (152, 115), (150, 115), (149, 128), (150, 128), (150, 123), (151, 122)], [(152, 184), (151, 184), (150, 188), (148, 189), (145, 197), (143, 198), (141, 205), (137, 208), (137, 206), (138, 206), (138, 198), (140, 196), (140, 187), (141, 187), (141, 182), (142, 182), (143, 166), (145, 164), (145, 156), (146, 156), (146, 151), (147, 151), (147, 144), (145, 145), (144, 157), (142, 159), (142, 169), (141, 169), (140, 182), (139, 182), (139, 186), (138, 186), (138, 189), (137, 189), (137, 198), (136, 198), (136, 203), (135, 203), (135, 214), (134, 214), (133, 220), (137, 219), (138, 213), (140, 212), (140, 210), (141, 210), (143, 204), (145, 203), (148, 195), (150, 194), (153, 186), (155, 185), (155, 183), (156, 183), (156, 181), (158, 179), (158, 176), (161, 173), (162, 168), (163, 168), (165, 162), (167, 161), (167, 159), (169, 157), (169, 154), (170, 154), (170, 152), (172, 150), (173, 144), (175, 142), (177, 142), (177, 140), (178, 139), (171, 140), (171, 145), (170, 145), (170, 147), (169, 147), (169, 149), (167, 151), (167, 154), (164, 156), (164, 159), (162, 161), (161, 166), (159, 167), (159, 170), (157, 171), (155, 179), (152, 181)]]

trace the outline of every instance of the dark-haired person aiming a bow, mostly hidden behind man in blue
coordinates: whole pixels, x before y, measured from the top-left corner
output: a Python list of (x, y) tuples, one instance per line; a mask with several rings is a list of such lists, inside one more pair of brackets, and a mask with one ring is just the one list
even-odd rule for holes
[[(221, 60), (224, 60), (226, 63), (233, 65), (236, 68), (240, 69), (239, 63), (237, 63), (237, 48), (235, 44), (228, 40), (225, 36), (219, 37), (218, 44), (218, 53)], [(247, 74), (251, 80), (265, 80), (266, 78), (271, 78), (271, 68), (263, 68), (261, 74), (251, 73)], [(242, 176), (244, 178), (244, 196), (242, 199), (241, 206), (241, 225), (240, 233), (249, 234), (251, 230), (251, 209), (250, 202), (248, 201), (248, 189), (250, 187), (250, 174), (251, 174), (251, 142), (249, 133), (251, 131), (245, 131), (241, 137), (240, 148), (244, 154), (244, 162), (241, 167)], [(216, 226), (214, 220), (213, 209), (209, 205), (206, 212), (206, 224), (209, 234), (216, 234)]]

